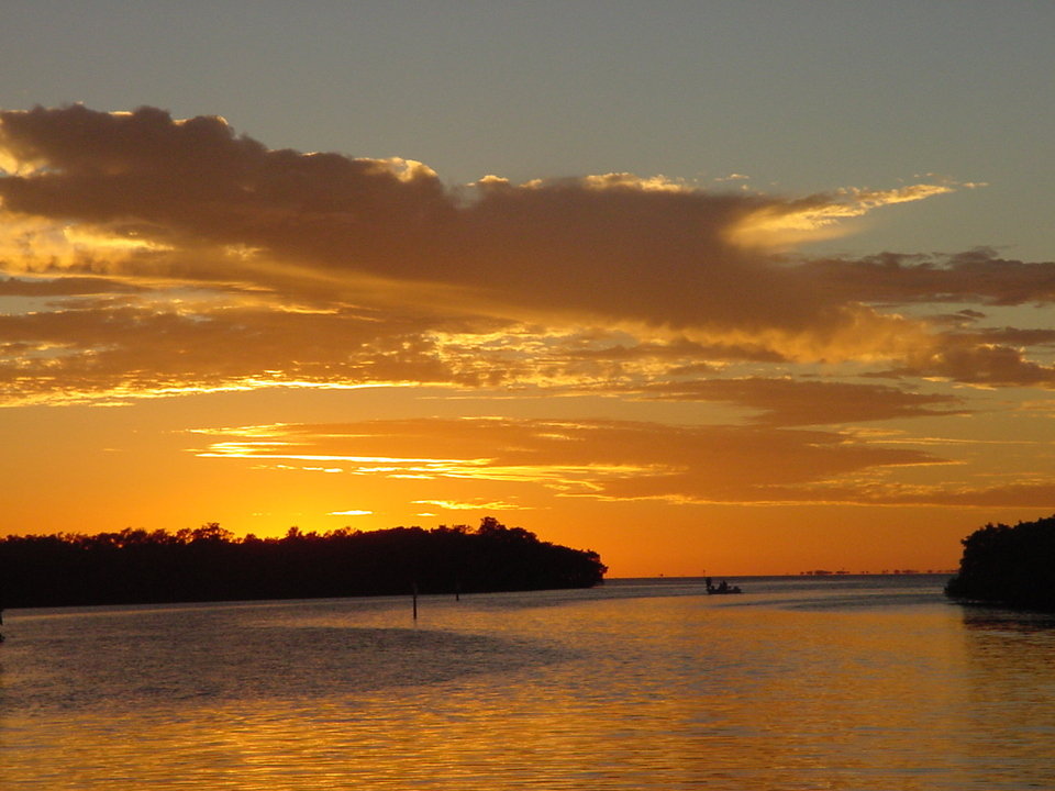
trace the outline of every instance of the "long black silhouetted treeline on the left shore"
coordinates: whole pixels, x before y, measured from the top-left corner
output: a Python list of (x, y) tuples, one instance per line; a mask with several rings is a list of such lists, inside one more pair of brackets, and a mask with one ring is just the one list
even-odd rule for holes
[(491, 516), (465, 525), (235, 538), (219, 524), (149, 533), (8, 536), (4, 606), (588, 588), (597, 553), (541, 542)]

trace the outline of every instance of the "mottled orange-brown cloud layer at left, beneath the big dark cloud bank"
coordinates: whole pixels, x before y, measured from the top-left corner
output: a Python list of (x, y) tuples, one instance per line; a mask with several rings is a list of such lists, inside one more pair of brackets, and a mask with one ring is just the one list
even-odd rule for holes
[(421, 324), (359, 311), (220, 305), (182, 313), (89, 303), (0, 314), (0, 338), (7, 344), (0, 345), (0, 392), (9, 404), (257, 387), (474, 383), (437, 358)]

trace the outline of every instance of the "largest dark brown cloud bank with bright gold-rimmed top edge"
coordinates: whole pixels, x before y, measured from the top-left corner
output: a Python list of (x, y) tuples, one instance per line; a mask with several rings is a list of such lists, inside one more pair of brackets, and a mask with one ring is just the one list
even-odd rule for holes
[[(126, 256), (134, 271), (178, 271), (180, 252), (237, 245), (348, 298), (381, 278), (406, 300), (442, 286), (453, 310), (503, 317), (792, 336), (820, 323), (828, 338), (860, 328), (859, 309), (817, 299), (793, 271), (730, 241), (759, 213), (828, 211), (834, 221), (847, 213), (845, 194), (785, 201), (610, 174), (519, 187), (491, 179), (467, 197), (420, 164), (270, 151), (218, 118), (75, 105), (0, 120), (3, 147), (26, 163), (0, 179), (5, 210), (158, 246)], [(948, 189), (857, 193), (849, 213)], [(216, 261), (223, 271), (213, 276), (273, 282), (274, 267), (258, 264)], [(775, 302), (775, 292), (786, 299)]]

